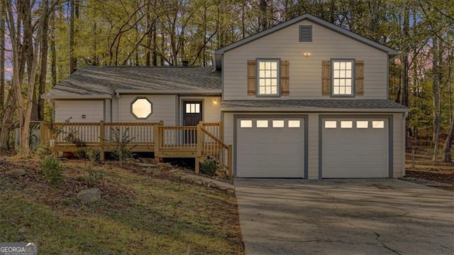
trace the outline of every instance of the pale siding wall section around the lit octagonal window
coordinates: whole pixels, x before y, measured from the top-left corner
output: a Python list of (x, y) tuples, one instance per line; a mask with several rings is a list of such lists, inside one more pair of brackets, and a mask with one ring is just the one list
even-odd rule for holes
[[(153, 114), (148, 119), (136, 119), (131, 114), (131, 102), (136, 97), (146, 97), (153, 104)], [(164, 121), (167, 126), (174, 126), (177, 120), (177, 96), (162, 94), (120, 94), (118, 99), (118, 117), (119, 122), (159, 122)], [(114, 118), (115, 119), (115, 118)]]

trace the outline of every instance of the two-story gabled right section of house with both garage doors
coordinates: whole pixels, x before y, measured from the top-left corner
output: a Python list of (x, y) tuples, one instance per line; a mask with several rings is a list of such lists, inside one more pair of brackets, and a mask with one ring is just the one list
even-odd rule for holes
[(305, 14), (216, 50), (238, 178), (397, 178), (408, 109), (388, 99), (398, 52)]

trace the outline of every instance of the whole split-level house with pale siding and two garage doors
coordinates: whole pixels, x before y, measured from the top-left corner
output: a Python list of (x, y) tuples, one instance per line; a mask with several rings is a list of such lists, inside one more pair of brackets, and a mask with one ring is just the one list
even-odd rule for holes
[(82, 67), (43, 97), (57, 122), (221, 121), (237, 178), (398, 178), (408, 109), (388, 99), (397, 54), (304, 14), (216, 50), (215, 68)]

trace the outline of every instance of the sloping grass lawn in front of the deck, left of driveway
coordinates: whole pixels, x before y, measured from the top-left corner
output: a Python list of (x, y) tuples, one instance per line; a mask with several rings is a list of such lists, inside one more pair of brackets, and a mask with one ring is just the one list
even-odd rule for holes
[[(101, 200), (84, 205), (85, 161), (62, 163), (52, 187), (38, 159), (0, 158), (0, 242), (35, 242), (39, 254), (243, 254), (236, 198), (174, 180), (171, 171), (97, 164)], [(6, 175), (22, 168), (25, 176)]]

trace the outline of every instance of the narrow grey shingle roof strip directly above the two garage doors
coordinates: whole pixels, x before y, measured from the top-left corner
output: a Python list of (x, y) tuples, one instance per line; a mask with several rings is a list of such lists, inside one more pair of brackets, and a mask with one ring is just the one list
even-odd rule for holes
[(327, 109), (408, 109), (402, 104), (387, 99), (270, 99), (270, 100), (228, 100), (221, 103), (229, 108), (327, 108)]

